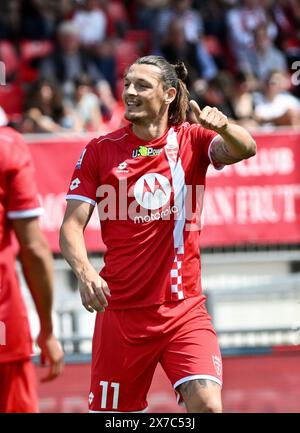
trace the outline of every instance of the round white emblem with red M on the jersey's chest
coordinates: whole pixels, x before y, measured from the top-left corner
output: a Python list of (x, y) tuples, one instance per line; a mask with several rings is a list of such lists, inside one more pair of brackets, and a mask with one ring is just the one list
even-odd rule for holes
[(171, 195), (169, 180), (158, 173), (141, 176), (134, 186), (138, 204), (146, 209), (159, 209), (168, 203)]

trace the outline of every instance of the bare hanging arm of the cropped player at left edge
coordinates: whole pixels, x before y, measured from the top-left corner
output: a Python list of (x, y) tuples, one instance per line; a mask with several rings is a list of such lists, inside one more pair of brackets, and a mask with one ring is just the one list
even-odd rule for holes
[(42, 359), (50, 362), (50, 371), (43, 381), (52, 380), (63, 368), (63, 351), (53, 335), (53, 268), (52, 255), (39, 228), (37, 218), (12, 220), (20, 244), (20, 261), (24, 277), (34, 300), (40, 320), (38, 344)]

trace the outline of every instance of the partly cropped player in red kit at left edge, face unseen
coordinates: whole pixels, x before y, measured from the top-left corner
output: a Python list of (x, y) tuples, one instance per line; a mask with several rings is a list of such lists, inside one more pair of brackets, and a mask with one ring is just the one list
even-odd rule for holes
[(41, 357), (50, 364), (43, 381), (56, 378), (63, 365), (51, 318), (52, 257), (38, 224), (42, 209), (29, 149), (8, 127), (0, 128), (0, 161), (0, 412), (38, 412), (32, 339), (15, 270), (12, 232), (40, 319)]

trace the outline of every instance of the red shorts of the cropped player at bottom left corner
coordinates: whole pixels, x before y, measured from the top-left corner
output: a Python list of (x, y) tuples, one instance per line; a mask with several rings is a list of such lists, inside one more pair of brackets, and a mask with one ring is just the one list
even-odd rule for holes
[(38, 412), (37, 383), (31, 360), (0, 363), (0, 412)]

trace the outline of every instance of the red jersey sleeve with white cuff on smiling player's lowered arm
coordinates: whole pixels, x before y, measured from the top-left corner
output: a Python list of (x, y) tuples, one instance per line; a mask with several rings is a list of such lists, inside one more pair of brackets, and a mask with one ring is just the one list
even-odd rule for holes
[(67, 200), (80, 200), (96, 205), (96, 192), (100, 185), (96, 140), (90, 141), (82, 151), (71, 178)]

